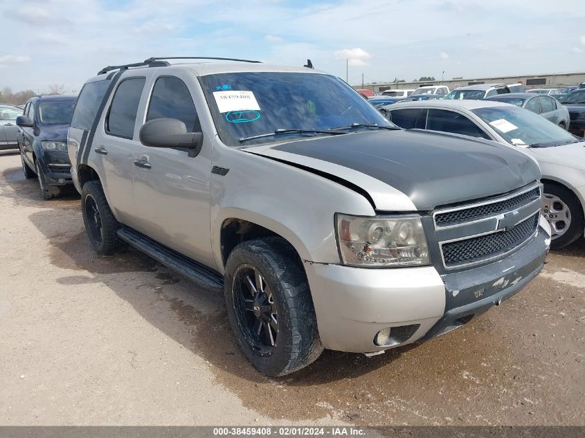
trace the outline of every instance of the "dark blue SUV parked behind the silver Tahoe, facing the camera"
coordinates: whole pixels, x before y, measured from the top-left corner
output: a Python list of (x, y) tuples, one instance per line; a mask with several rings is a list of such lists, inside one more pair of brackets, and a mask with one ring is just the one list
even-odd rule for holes
[(26, 178), (39, 179), (42, 197), (51, 199), (71, 184), (67, 131), (75, 108), (75, 96), (37, 96), (19, 116), (18, 145)]

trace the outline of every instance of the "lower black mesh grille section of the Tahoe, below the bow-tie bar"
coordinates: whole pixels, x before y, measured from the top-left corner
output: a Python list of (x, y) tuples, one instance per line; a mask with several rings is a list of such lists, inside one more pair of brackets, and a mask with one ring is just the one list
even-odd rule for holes
[(529, 239), (536, 232), (538, 223), (539, 212), (510, 230), (444, 243), (441, 246), (444, 265), (450, 268), (508, 253)]

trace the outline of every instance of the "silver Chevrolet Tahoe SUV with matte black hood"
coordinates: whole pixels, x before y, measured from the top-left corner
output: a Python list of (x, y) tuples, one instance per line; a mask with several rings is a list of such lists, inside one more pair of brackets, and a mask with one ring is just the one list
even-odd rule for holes
[(80, 92), (68, 145), (87, 235), (223, 291), (264, 374), (444, 334), (543, 267), (524, 154), (399, 129), (307, 66), (165, 59), (107, 67)]

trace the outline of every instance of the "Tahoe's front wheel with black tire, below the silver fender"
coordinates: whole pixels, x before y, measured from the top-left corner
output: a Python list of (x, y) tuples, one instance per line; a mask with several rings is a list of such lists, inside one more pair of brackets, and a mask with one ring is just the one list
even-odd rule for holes
[(237, 343), (263, 374), (290, 374), (323, 352), (307, 277), (286, 241), (269, 237), (236, 246), (224, 295)]

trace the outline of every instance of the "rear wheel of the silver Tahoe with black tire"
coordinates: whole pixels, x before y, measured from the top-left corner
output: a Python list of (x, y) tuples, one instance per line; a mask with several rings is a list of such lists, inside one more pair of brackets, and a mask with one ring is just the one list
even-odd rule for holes
[(127, 248), (118, 237), (120, 224), (107, 203), (100, 181), (88, 181), (81, 192), (81, 212), (89, 243), (96, 253), (111, 255)]

